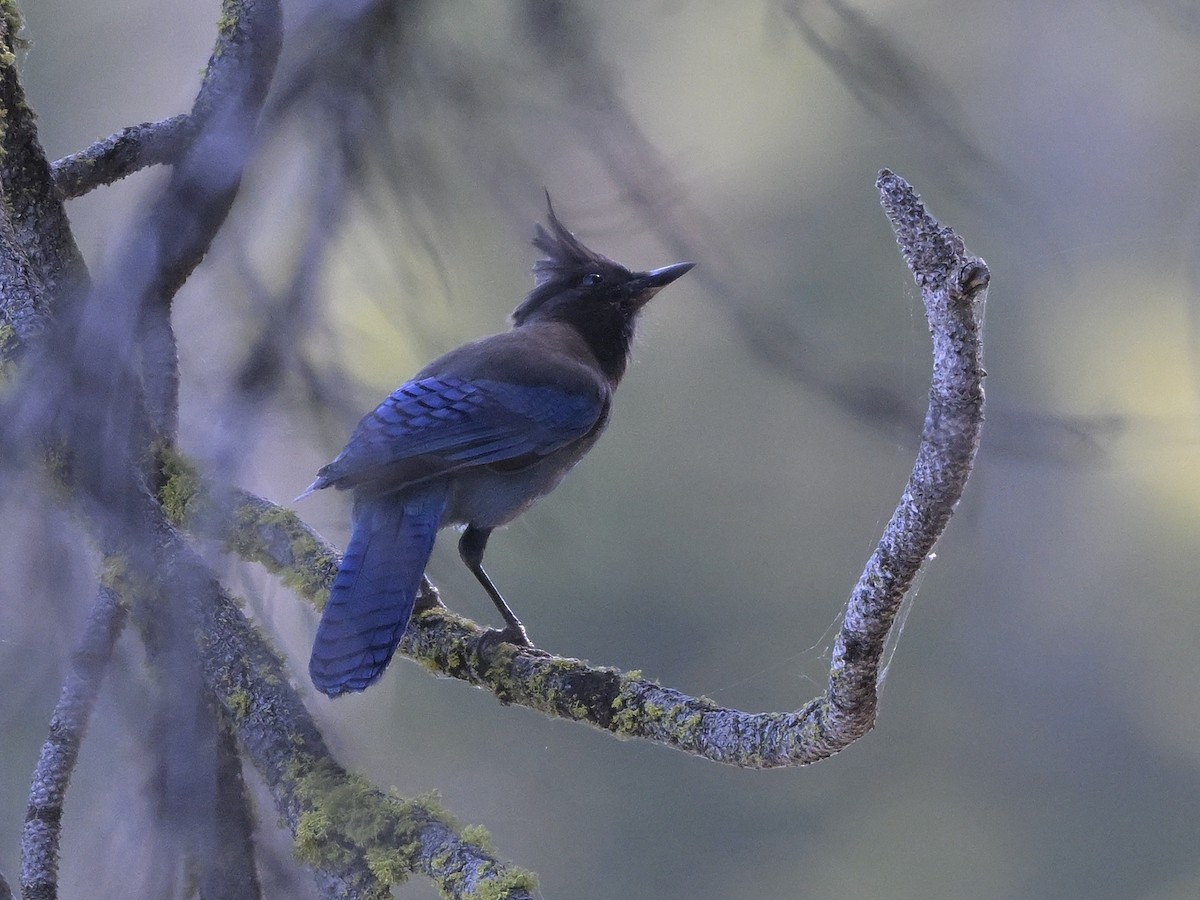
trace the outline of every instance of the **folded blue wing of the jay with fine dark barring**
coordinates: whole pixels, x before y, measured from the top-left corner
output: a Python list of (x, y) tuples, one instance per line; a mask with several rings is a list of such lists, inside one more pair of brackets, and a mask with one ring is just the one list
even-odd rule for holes
[(403, 485), (470, 466), (522, 464), (586, 436), (605, 397), (560, 388), (419, 378), (367, 414), (311, 490), (370, 480)]

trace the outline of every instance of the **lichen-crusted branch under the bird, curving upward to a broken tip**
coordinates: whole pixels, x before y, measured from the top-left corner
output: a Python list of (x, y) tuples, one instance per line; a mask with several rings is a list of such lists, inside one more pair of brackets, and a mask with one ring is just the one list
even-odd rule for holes
[[(433, 606), (414, 617), (400, 652), (439, 674), (491, 690), (504, 703), (641, 737), (732, 766), (803, 766), (830, 756), (875, 721), (876, 682), (905, 594), (966, 486), (983, 426), (982, 308), (989, 271), (924, 209), (899, 176), (878, 179), (881, 202), (925, 304), (934, 344), (929, 408), (912, 475), (851, 594), (827, 691), (787, 713), (744, 713), (642, 679), (541, 650), (485, 641), (474, 623)], [(194, 488), (194, 485), (193, 485)], [(236, 506), (233, 509), (238, 509)], [(328, 547), (296, 558), (296, 521), (257, 500), (253, 540), (232, 547), (310, 584), (318, 604), (332, 577)], [(241, 514), (239, 514), (241, 515)], [(234, 520), (226, 516), (227, 527)], [(320, 546), (320, 545), (318, 545)], [(301, 550), (301, 553), (307, 551)], [(320, 570), (313, 568), (317, 562)], [(323, 570), (323, 571), (322, 571)], [(328, 574), (326, 574), (328, 572)]]

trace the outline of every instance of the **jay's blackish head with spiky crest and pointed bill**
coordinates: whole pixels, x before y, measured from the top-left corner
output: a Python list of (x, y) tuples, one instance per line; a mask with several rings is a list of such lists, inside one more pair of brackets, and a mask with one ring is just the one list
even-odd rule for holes
[(548, 227), (538, 226), (533, 245), (546, 257), (534, 263), (534, 289), (512, 311), (514, 328), (557, 320), (574, 326), (606, 373), (624, 372), (637, 313), (695, 263), (635, 272), (586, 247), (558, 221), (546, 194)]

